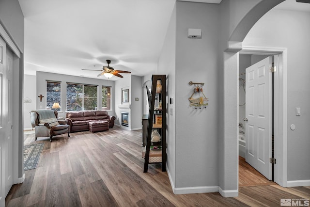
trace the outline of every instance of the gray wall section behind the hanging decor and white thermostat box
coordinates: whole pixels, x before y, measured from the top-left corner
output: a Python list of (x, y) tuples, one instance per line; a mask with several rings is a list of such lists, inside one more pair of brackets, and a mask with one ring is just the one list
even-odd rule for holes
[[(218, 186), (217, 69), (218, 4), (176, 2), (176, 146), (175, 187)], [(187, 38), (187, 29), (202, 29), (202, 39)], [(204, 82), (206, 109), (189, 106), (194, 87)]]

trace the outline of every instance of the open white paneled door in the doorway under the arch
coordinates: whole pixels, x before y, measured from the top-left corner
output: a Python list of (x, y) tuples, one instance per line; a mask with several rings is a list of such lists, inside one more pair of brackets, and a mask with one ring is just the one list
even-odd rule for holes
[(246, 69), (246, 161), (272, 179), (272, 57)]

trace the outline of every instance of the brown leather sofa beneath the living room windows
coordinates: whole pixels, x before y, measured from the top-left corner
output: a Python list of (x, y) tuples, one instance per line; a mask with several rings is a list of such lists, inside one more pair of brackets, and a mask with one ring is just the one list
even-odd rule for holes
[(107, 121), (109, 125), (97, 125), (97, 127), (100, 127), (98, 130), (104, 131), (114, 126), (115, 116), (110, 116), (108, 111), (72, 111), (66, 113), (65, 120), (67, 120), (70, 126), (70, 132), (90, 130), (93, 122), (97, 121), (97, 124), (99, 124), (100, 122), (104, 123), (104, 121)]

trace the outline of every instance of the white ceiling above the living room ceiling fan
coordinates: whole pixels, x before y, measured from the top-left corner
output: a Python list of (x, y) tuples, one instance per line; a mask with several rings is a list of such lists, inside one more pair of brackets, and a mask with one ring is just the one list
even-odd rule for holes
[[(220, 3), (221, 0), (187, 1)], [(98, 71), (81, 69), (101, 69), (109, 59), (116, 70), (131, 71), (137, 76), (154, 73), (175, 0), (19, 0), (19, 3), (25, 16), (25, 74), (45, 71), (97, 78)], [(294, 0), (284, 3), (289, 8), (296, 4)], [(302, 4), (297, 7), (310, 6), (297, 4)]]

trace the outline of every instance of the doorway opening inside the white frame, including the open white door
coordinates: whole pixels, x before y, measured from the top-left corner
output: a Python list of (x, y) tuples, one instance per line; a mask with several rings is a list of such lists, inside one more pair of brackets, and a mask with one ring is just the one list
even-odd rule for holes
[(273, 62), (273, 56), (239, 54), (240, 187), (273, 183)]

